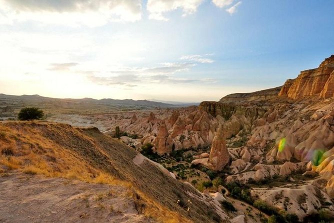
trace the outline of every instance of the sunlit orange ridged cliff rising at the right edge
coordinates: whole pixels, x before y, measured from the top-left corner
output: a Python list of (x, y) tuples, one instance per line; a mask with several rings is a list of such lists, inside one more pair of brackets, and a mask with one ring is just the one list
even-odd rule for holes
[(318, 68), (301, 71), (294, 80), (287, 80), (279, 96), (298, 99), (304, 96), (329, 98), (334, 94), (334, 55), (326, 58)]

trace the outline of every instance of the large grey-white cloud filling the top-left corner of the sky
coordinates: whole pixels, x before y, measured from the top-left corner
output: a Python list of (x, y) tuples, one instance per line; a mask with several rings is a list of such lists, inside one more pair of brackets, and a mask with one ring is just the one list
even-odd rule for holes
[(141, 0), (0, 0), (0, 24), (33, 20), (98, 26), (140, 19)]

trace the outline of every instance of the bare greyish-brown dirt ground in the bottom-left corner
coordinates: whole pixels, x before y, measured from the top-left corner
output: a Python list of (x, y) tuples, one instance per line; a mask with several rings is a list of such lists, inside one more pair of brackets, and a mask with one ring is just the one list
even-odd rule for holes
[(153, 222), (122, 186), (11, 171), (0, 188), (0, 222)]

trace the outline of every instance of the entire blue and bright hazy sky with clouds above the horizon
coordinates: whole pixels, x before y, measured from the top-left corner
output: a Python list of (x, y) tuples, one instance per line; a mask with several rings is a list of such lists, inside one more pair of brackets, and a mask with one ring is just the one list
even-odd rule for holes
[(334, 54), (333, 0), (0, 0), (0, 93), (219, 100)]

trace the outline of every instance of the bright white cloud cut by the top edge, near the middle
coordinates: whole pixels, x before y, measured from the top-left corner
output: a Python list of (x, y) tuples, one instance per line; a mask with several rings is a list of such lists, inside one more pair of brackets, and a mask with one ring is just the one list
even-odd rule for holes
[(150, 19), (168, 20), (163, 14), (175, 9), (182, 9), (183, 16), (191, 14), (203, 0), (148, 0), (147, 11)]

